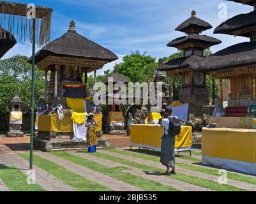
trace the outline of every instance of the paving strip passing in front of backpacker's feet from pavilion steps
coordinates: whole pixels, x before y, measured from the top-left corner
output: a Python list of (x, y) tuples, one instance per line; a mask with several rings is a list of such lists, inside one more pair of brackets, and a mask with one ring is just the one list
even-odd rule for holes
[(109, 168), (121, 167), (121, 166), (128, 167), (129, 170), (122, 170), (122, 171), (124, 171), (126, 173), (130, 173), (132, 175), (136, 175), (138, 177), (142, 177), (142, 178), (147, 179), (147, 180), (152, 180), (154, 182), (158, 182), (158, 183), (163, 184), (165, 186), (174, 187), (175, 189), (179, 189), (181, 191), (212, 191), (211, 189), (206, 189), (204, 187), (195, 186), (193, 184), (188, 184), (186, 182), (179, 181), (179, 180), (176, 180), (176, 179), (163, 177), (162, 174), (161, 174), (162, 177), (160, 177), (160, 175), (147, 173), (143, 170), (133, 168), (132, 166), (126, 166), (124, 164), (119, 164), (119, 163), (116, 163), (114, 161), (110, 161), (110, 160), (107, 160), (107, 159), (102, 159), (100, 157), (93, 156), (93, 154), (89, 155), (89, 154), (77, 153), (77, 152), (68, 152), (68, 153), (73, 154), (75, 156), (83, 157), (85, 159), (89, 159), (89, 160), (94, 161), (96, 163), (100, 163), (100, 164), (102, 164), (104, 166), (107, 166)]

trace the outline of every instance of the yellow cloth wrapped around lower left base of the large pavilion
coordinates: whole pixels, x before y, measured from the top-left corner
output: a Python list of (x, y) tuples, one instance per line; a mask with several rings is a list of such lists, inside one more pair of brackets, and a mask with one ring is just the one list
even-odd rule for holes
[(57, 133), (73, 133), (73, 120), (71, 114), (64, 114), (59, 120), (57, 113), (41, 115), (38, 118), (38, 131), (54, 131)]

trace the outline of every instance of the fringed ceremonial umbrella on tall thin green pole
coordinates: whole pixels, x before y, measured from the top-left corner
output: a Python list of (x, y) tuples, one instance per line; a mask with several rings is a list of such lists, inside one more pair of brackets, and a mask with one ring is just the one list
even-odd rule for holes
[(36, 43), (41, 47), (50, 42), (50, 24), (52, 9), (34, 4), (15, 3), (13, 1), (0, 1), (0, 25), (2, 34), (6, 36), (6, 29), (10, 36), (19, 40), (29, 40), (32, 49), (32, 78), (31, 78), (31, 147), (29, 168), (33, 169), (33, 135), (34, 135), (34, 68)]

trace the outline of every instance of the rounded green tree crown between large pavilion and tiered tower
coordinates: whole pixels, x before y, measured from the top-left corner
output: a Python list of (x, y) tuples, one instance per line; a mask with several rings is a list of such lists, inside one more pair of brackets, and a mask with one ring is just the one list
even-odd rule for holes
[(158, 68), (156, 58), (146, 55), (146, 52), (140, 54), (136, 51), (123, 57), (123, 62), (116, 64), (114, 71), (128, 77), (131, 82), (149, 83), (156, 68)]

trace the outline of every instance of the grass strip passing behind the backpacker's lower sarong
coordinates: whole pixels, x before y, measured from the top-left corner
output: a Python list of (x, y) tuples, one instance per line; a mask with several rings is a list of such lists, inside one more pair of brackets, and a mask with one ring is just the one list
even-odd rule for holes
[[(130, 151), (126, 151), (126, 150), (120, 150), (120, 149), (109, 149), (110, 152), (116, 152), (119, 154), (124, 154), (127, 156), (133, 156), (133, 157), (137, 157), (140, 159), (146, 159), (149, 161), (156, 161), (159, 162), (159, 157), (158, 156), (150, 156), (150, 155), (146, 155), (146, 154), (136, 154)], [(204, 168), (201, 166), (193, 166), (190, 164), (184, 164), (184, 163), (176, 163), (177, 166), (181, 167), (181, 168), (186, 168), (188, 170), (193, 170), (193, 171), (199, 171), (202, 173), (207, 173), (207, 174), (211, 174), (211, 175), (218, 175), (218, 170), (215, 169), (209, 169), (209, 168)], [(228, 172), (227, 173), (227, 177), (228, 179), (233, 179), (233, 180), (237, 180), (237, 181), (241, 181), (241, 182), (246, 182), (249, 184), (256, 184), (256, 178), (253, 177), (246, 177), (237, 173), (232, 173), (232, 172)]]

